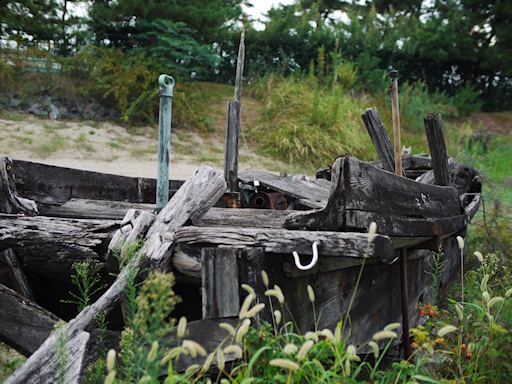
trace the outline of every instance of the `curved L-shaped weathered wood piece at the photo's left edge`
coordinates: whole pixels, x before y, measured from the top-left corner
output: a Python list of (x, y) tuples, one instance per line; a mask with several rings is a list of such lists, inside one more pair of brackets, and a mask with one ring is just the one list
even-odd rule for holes
[(0, 156), (0, 212), (37, 215), (36, 203), (18, 196), (12, 161), (6, 156)]

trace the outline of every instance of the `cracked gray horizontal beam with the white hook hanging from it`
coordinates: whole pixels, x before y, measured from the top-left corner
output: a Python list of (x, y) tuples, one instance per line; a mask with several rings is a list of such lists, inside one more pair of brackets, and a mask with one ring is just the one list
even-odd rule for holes
[(312, 255), (311, 245), (318, 241), (319, 253), (322, 256), (361, 258), (366, 251), (369, 258), (383, 261), (394, 258), (391, 241), (387, 236), (377, 235), (375, 241), (368, 244), (364, 233), (187, 226), (177, 229), (172, 238), (177, 244), (261, 247), (268, 253), (290, 255), (293, 251), (301, 255)]

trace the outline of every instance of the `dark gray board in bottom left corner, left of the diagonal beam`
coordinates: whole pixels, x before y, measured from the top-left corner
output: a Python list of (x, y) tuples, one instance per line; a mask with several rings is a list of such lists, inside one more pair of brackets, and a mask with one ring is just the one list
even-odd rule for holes
[(0, 284), (0, 339), (25, 356), (34, 353), (60, 319)]

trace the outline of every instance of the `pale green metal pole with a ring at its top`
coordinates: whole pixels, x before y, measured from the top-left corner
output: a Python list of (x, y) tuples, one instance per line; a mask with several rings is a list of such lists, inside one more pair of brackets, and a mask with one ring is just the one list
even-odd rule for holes
[(156, 178), (156, 211), (169, 201), (169, 152), (171, 147), (172, 98), (174, 79), (160, 75), (160, 117), (158, 128), (158, 169)]

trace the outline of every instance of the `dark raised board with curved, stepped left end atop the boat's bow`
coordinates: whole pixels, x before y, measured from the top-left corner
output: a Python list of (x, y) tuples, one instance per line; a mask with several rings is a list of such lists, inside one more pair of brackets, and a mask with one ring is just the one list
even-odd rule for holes
[(462, 214), (455, 188), (420, 184), (351, 157), (338, 158), (332, 169), (331, 193), (326, 207), (290, 214), (286, 228), (357, 231), (366, 230), (371, 221), (380, 218), (377, 221), (379, 233), (415, 236), (415, 227), (405, 228), (404, 233), (398, 230), (396, 222), (401, 220), (430, 228), (433, 236), (436, 235), (433, 224)]

